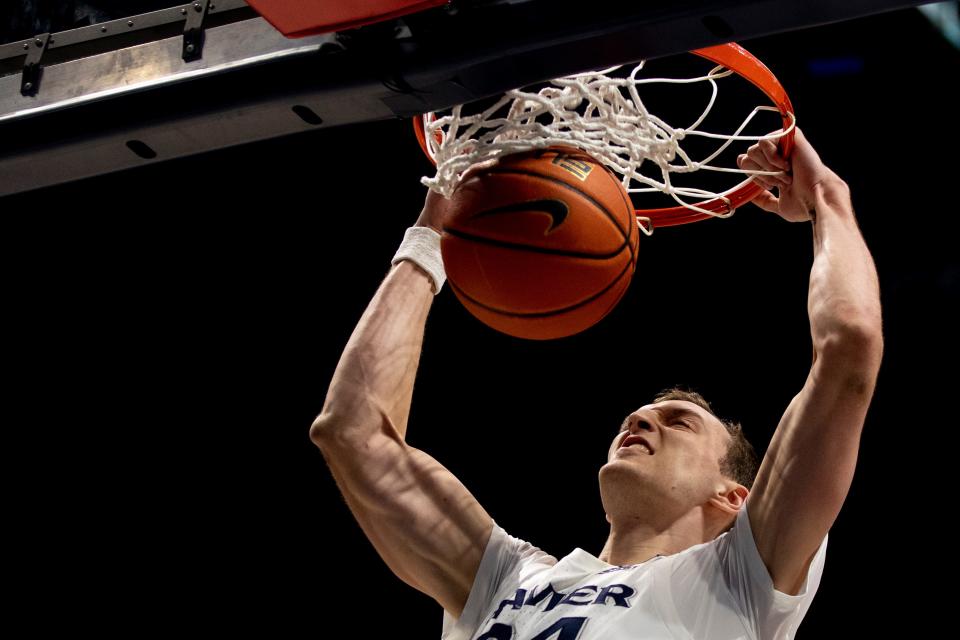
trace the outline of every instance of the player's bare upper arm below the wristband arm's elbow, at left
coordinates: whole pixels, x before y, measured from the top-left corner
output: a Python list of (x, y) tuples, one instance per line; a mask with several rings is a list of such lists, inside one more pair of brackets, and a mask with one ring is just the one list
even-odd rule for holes
[(493, 521), (463, 484), (391, 429), (321, 451), (364, 533), (404, 582), (463, 609)]

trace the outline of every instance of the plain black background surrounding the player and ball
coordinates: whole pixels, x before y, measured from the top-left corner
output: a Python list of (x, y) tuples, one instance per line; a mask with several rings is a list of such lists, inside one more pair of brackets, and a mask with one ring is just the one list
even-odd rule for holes
[[(884, 305), (857, 475), (799, 635), (921, 636), (955, 537), (960, 56), (915, 10), (742, 44), (849, 182)], [(9, 450), (11, 553), (35, 628), (439, 634), (307, 438), (429, 171), (393, 121), (0, 199), (8, 399), (27, 409), (10, 437), (33, 444)], [(409, 442), (558, 557), (602, 547), (596, 475), (627, 413), (688, 385), (762, 453), (809, 368), (809, 225), (748, 206), (642, 238), (639, 258), (571, 338), (498, 334), (448, 288), (428, 321)]]

